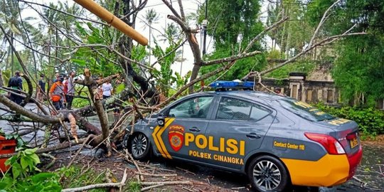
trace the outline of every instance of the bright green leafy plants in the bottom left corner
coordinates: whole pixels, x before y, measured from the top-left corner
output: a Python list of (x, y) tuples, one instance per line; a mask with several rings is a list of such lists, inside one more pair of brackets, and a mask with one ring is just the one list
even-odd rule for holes
[(57, 174), (39, 173), (36, 166), (40, 159), (35, 152), (36, 149), (19, 151), (6, 161), (11, 167), (0, 180), (2, 191), (61, 191)]

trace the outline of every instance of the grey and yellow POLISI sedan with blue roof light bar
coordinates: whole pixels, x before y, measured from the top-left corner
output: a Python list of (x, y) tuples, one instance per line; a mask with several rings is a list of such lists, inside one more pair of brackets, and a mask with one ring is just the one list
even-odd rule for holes
[(134, 124), (124, 140), (132, 156), (154, 154), (247, 174), (257, 191), (336, 186), (355, 174), (362, 157), (356, 122), (252, 91), (252, 82), (210, 87), (216, 91), (183, 97)]

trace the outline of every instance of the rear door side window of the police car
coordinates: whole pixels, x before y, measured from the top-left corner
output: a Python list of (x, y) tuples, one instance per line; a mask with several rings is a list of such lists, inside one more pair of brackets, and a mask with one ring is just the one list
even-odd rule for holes
[(269, 110), (251, 102), (223, 97), (218, 107), (216, 119), (257, 121), (269, 113)]

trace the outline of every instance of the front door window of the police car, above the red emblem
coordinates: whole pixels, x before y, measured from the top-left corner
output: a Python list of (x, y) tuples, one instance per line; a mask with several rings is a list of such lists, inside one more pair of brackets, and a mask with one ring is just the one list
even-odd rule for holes
[(193, 97), (185, 100), (171, 107), (169, 117), (205, 119), (208, 116), (208, 110), (212, 100), (212, 96)]

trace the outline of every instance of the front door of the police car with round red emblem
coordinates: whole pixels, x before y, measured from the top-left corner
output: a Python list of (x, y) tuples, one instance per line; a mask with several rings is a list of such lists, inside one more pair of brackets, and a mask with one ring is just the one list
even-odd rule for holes
[(166, 157), (205, 161), (203, 137), (213, 110), (212, 102), (213, 95), (200, 95), (169, 107), (161, 133)]

